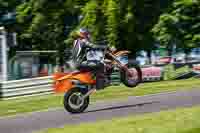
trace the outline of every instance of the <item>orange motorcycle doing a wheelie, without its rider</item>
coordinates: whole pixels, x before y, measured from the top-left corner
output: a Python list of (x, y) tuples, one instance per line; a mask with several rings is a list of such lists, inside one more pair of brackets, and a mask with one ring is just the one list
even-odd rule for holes
[[(95, 50), (94, 50), (95, 51)], [(142, 71), (135, 61), (128, 60), (130, 51), (113, 52), (109, 48), (96, 50), (96, 55), (101, 57), (106, 75), (104, 89), (108, 86), (120, 85), (136, 87), (142, 80)], [(90, 95), (96, 91), (96, 77), (92, 71), (75, 71), (54, 74), (55, 92), (65, 93), (64, 108), (70, 113), (81, 113), (90, 103)], [(102, 89), (100, 89), (102, 90)]]

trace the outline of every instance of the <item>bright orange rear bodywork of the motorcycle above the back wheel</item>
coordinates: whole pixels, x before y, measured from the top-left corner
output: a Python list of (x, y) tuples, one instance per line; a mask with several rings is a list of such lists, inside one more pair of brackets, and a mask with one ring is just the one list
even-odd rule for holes
[(71, 82), (71, 80), (79, 80), (84, 84), (95, 84), (95, 80), (92, 79), (92, 75), (90, 72), (83, 73), (55, 73), (53, 75), (55, 83), (54, 83), (54, 91), (57, 93), (64, 93), (72, 89), (75, 85)]

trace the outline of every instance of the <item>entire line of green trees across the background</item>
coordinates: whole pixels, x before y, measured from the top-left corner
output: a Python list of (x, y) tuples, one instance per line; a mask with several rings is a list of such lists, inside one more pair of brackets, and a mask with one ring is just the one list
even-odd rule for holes
[[(119, 49), (149, 53), (158, 43), (185, 51), (200, 40), (199, 0), (1, 0), (2, 11), (15, 11), (11, 25), (20, 49), (63, 52), (75, 31), (87, 27), (92, 40)], [(3, 4), (4, 3), (4, 4)], [(6, 4), (5, 4), (6, 3)], [(10, 27), (8, 25), (8, 27)]]

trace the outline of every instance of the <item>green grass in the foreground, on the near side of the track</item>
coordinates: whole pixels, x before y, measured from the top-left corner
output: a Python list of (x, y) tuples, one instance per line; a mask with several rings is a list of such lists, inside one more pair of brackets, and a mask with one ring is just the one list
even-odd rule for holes
[(40, 133), (199, 133), (200, 107), (52, 128)]

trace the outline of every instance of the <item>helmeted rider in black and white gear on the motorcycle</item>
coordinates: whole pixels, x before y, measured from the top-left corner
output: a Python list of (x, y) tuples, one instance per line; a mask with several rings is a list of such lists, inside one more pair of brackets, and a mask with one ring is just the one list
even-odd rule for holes
[[(90, 41), (90, 33), (87, 29), (81, 28), (78, 31), (78, 38), (74, 41), (72, 49), (72, 57), (77, 64), (79, 70), (92, 70), (96, 74), (96, 89), (103, 89), (105, 76), (104, 76), (104, 64), (96, 57), (92, 57), (92, 60), (87, 59), (88, 49), (100, 48), (101, 46), (94, 46)], [(98, 58), (98, 57), (97, 57)]]

